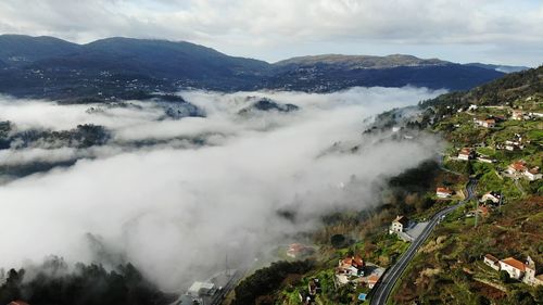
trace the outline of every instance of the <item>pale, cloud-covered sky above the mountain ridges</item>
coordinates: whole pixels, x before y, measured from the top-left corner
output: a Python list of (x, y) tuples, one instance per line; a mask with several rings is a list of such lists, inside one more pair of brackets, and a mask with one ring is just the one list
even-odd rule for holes
[(0, 33), (186, 40), (230, 55), (413, 54), (539, 66), (540, 0), (0, 0)]

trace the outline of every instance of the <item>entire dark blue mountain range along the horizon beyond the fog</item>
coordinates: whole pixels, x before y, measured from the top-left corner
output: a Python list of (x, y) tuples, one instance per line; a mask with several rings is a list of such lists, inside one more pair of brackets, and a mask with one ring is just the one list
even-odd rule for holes
[(329, 54), (269, 64), (184, 41), (116, 37), (76, 45), (53, 37), (0, 36), (0, 92), (21, 97), (140, 99), (179, 88), (329, 92), (411, 85), (459, 90), (502, 75), (402, 54)]

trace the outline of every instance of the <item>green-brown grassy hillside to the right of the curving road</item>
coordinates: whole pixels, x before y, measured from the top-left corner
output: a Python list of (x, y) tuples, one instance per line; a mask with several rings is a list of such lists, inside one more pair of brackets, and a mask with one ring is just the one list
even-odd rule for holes
[[(543, 112), (541, 73), (540, 67), (527, 74), (513, 75), (510, 79), (497, 80), (483, 86), (485, 88), (463, 93), (463, 98), (469, 99), (472, 104), (497, 104), (515, 109), (521, 106), (525, 111)], [(526, 81), (522, 81), (522, 77)], [(452, 96), (454, 94), (450, 97)], [(492, 97), (498, 98), (493, 100)], [(470, 171), (479, 177), (477, 192), (482, 194), (487, 191), (502, 191), (506, 204), (500, 211), (492, 212), (489, 217), (479, 219), (477, 227), (475, 218), (464, 216), (467, 211), (475, 208), (475, 202), (450, 216), (416, 255), (396, 285), (390, 303), (411, 304), (417, 300), (421, 304), (478, 304), (481, 297), (484, 297), (494, 304), (517, 304), (519, 300), (514, 297), (519, 292), (531, 293), (532, 298), (542, 302), (543, 300), (538, 300), (541, 297), (541, 291), (536, 292), (535, 289), (519, 282), (501, 282), (498, 274), (483, 265), (481, 259), (487, 253), (501, 258), (515, 256), (518, 259), (530, 255), (540, 267), (543, 264), (543, 182), (519, 180), (525, 191), (522, 193), (513, 179), (497, 175), (516, 160), (525, 160), (532, 166), (542, 167), (543, 122), (506, 120), (495, 128), (475, 127), (473, 116), (507, 115), (508, 110), (480, 107), (471, 114), (457, 113), (454, 106), (451, 106), (455, 105), (454, 103), (442, 101), (443, 97), (433, 101), (435, 111), (444, 114), (444, 117), (441, 116), (432, 128), (443, 132), (454, 147), (450, 150), (453, 152), (473, 143), (487, 144), (477, 151), (496, 158), (497, 163), (470, 164)], [(503, 143), (515, 134), (530, 140), (523, 151), (494, 149), (496, 143)], [(449, 165), (455, 166), (455, 163), (458, 166), (458, 162), (450, 162)], [(539, 271), (541, 272), (541, 269)], [(526, 301), (527, 298), (530, 297), (526, 297), (525, 302), (531, 302)]]

